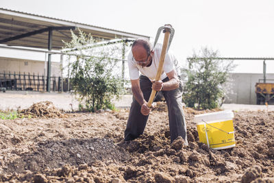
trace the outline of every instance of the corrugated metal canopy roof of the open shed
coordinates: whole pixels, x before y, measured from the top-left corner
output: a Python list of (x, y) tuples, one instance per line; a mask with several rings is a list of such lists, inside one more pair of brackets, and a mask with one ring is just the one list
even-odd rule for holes
[(93, 25), (64, 21), (36, 14), (0, 8), (0, 44), (49, 49), (49, 30), (52, 30), (51, 49), (62, 49), (71, 40), (71, 29), (82, 29), (94, 38), (149, 38), (140, 34), (121, 32)]

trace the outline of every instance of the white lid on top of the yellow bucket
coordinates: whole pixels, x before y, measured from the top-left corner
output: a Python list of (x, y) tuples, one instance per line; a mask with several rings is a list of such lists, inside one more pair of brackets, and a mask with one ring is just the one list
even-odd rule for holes
[(223, 110), (219, 112), (208, 112), (206, 114), (197, 114), (194, 116), (195, 123), (201, 123), (201, 121), (217, 121), (219, 119), (233, 119), (234, 114), (232, 110)]

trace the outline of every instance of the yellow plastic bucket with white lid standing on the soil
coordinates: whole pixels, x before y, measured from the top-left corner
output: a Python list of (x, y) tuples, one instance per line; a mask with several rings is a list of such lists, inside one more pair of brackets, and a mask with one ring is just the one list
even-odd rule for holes
[(232, 110), (195, 115), (199, 141), (212, 149), (235, 147)]

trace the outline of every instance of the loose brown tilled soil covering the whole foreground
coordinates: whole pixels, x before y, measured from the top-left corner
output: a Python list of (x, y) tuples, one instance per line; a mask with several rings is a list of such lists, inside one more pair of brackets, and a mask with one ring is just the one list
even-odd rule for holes
[(234, 111), (236, 147), (199, 143), (195, 114), (184, 108), (189, 145), (170, 144), (164, 103), (145, 133), (123, 140), (129, 110), (62, 113), (36, 103), (32, 118), (0, 121), (0, 182), (274, 182), (274, 112)]

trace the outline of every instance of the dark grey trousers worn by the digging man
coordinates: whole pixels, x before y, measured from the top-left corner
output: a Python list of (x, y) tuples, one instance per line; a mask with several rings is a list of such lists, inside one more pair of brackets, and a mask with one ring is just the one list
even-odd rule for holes
[[(166, 77), (163, 82), (169, 81), (169, 77)], [(140, 76), (140, 88), (146, 101), (149, 100), (151, 94), (152, 83), (148, 77)], [(171, 143), (178, 137), (182, 136), (185, 141), (185, 145), (188, 145), (186, 138), (186, 121), (184, 119), (184, 111), (182, 106), (182, 93), (183, 84), (180, 80), (179, 88), (175, 90), (162, 91), (166, 104), (169, 110), (169, 130), (171, 134)], [(132, 141), (138, 138), (144, 130), (147, 124), (149, 115), (144, 116), (140, 112), (141, 106), (134, 99), (129, 112), (129, 119), (127, 120), (127, 127), (125, 129), (125, 141)]]

